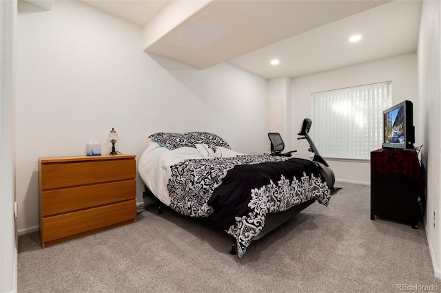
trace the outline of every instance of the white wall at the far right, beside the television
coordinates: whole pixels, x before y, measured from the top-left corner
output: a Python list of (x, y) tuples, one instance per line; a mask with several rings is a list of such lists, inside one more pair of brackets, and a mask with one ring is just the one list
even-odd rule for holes
[(441, 1), (423, 1), (418, 41), (421, 160), (427, 173), (425, 229), (435, 276), (441, 278)]

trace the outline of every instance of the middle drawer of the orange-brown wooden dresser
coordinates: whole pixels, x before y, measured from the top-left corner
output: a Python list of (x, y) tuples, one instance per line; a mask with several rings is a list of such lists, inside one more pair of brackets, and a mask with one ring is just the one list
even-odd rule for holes
[(41, 192), (41, 216), (134, 199), (136, 180), (55, 189)]

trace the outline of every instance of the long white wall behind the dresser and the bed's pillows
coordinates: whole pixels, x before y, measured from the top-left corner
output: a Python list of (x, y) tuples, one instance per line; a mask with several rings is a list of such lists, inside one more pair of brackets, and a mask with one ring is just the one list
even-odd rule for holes
[[(38, 229), (38, 164), (84, 155), (90, 138), (141, 155), (156, 131), (210, 131), (243, 153), (267, 144), (267, 80), (227, 63), (193, 69), (142, 50), (142, 29), (76, 1), (50, 12), (19, 3), (17, 199), (19, 232)], [(137, 178), (137, 200), (143, 184)]]

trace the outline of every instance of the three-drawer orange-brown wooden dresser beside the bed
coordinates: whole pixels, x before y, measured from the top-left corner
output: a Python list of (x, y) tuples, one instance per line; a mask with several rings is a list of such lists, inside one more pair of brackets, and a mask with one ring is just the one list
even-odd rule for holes
[(39, 158), (41, 247), (136, 221), (135, 158)]

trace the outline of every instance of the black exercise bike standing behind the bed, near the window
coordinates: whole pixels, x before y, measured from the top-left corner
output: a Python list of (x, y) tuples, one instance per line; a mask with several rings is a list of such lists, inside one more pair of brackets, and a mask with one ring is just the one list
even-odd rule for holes
[(325, 178), (325, 181), (327, 183), (327, 186), (331, 190), (331, 193), (335, 193), (336, 191), (342, 189), (341, 187), (335, 187), (334, 184), (336, 183), (336, 176), (334, 175), (334, 171), (332, 171), (331, 167), (328, 165), (328, 163), (325, 161), (324, 158), (320, 155), (318, 152), (318, 149), (314, 142), (312, 141), (311, 137), (309, 136), (309, 129), (311, 129), (312, 121), (309, 118), (303, 119), (302, 122), (302, 128), (300, 129), (300, 132), (297, 133), (297, 135), (302, 135), (300, 138), (297, 138), (298, 140), (307, 140), (309, 142), (309, 149), (308, 151), (311, 151), (314, 153), (314, 158), (312, 159), (313, 162), (316, 163), (318, 166), (318, 169), (320, 170), (320, 173)]

